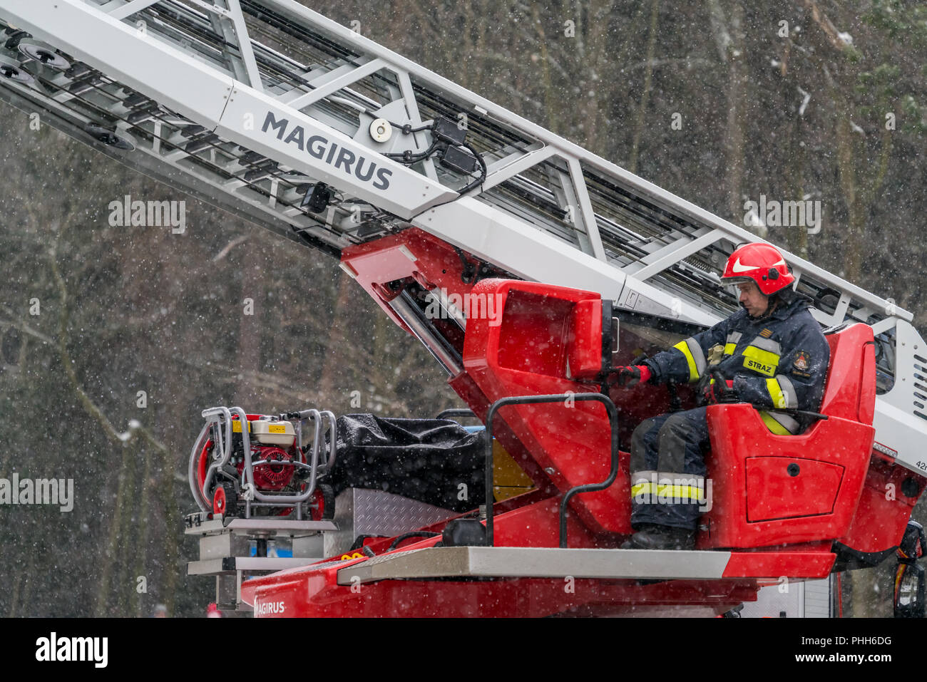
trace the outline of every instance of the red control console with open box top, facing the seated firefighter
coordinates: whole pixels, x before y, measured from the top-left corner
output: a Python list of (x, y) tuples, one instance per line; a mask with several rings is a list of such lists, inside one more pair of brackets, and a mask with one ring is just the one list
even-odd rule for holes
[[(494, 317), (468, 319), (464, 336), (464, 372), (489, 403), (510, 396), (598, 392), (599, 385), (592, 379), (603, 366), (599, 294), (488, 279), (476, 284), (471, 295), (486, 297), (487, 309), (502, 311)], [(611, 436), (601, 403), (506, 406), (494, 422), (500, 419), (537, 462), (536, 471), (549, 476), (561, 493), (607, 478)], [(494, 435), (510, 449), (504, 433)], [(530, 475), (527, 468), (526, 472)], [(593, 533), (631, 532), (630, 489), (624, 472), (627, 462), (608, 489), (570, 500), (579, 520)], [(549, 485), (542, 480), (535, 483)]]

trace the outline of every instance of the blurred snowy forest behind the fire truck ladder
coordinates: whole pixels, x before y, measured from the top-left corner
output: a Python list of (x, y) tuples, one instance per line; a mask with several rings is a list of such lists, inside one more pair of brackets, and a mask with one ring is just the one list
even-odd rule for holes
[[(920, 0), (303, 4), (734, 223), (760, 195), (820, 200), (819, 234), (764, 235), (927, 328)], [(75, 503), (0, 509), (0, 614), (202, 615), (181, 531), (200, 410), (459, 401), (334, 259), (29, 122), (0, 105), (0, 477), (73, 478)], [(185, 198), (186, 232), (110, 227), (125, 195)], [(846, 576), (844, 615), (891, 614), (894, 564)]]

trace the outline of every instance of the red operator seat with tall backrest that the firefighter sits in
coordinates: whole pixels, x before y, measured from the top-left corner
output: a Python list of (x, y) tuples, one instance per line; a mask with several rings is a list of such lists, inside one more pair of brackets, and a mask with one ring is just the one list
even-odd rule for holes
[(744, 403), (708, 408), (710, 483), (700, 549), (761, 548), (846, 533), (875, 436), (872, 328), (853, 324), (827, 340), (831, 361), (820, 412), (828, 419), (804, 433), (772, 434)]

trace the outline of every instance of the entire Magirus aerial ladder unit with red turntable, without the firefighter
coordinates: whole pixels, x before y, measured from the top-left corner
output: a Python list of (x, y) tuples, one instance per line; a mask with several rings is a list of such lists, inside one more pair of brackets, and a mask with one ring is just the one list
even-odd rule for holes
[(332, 518), (340, 418), (205, 410), (186, 532), (224, 608), (724, 613), (783, 575), (920, 553), (927, 347), (891, 300), (783, 251), (831, 344), (825, 418), (773, 436), (712, 407), (697, 549), (617, 549), (621, 444), (693, 395), (604, 395), (602, 373), (737, 309), (718, 273), (756, 235), (293, 0), (0, 0), (0, 21), (0, 97), (338, 258), (489, 432), (479, 509), (348, 485)]

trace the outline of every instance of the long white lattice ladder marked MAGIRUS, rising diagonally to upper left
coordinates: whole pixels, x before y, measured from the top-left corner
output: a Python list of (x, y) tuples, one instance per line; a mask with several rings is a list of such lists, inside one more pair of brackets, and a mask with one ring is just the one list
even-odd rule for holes
[[(710, 325), (759, 241), (292, 0), (0, 0), (0, 96), (338, 256), (417, 226), (516, 278)], [(786, 253), (816, 318), (876, 336), (877, 448), (927, 470), (908, 310)]]

